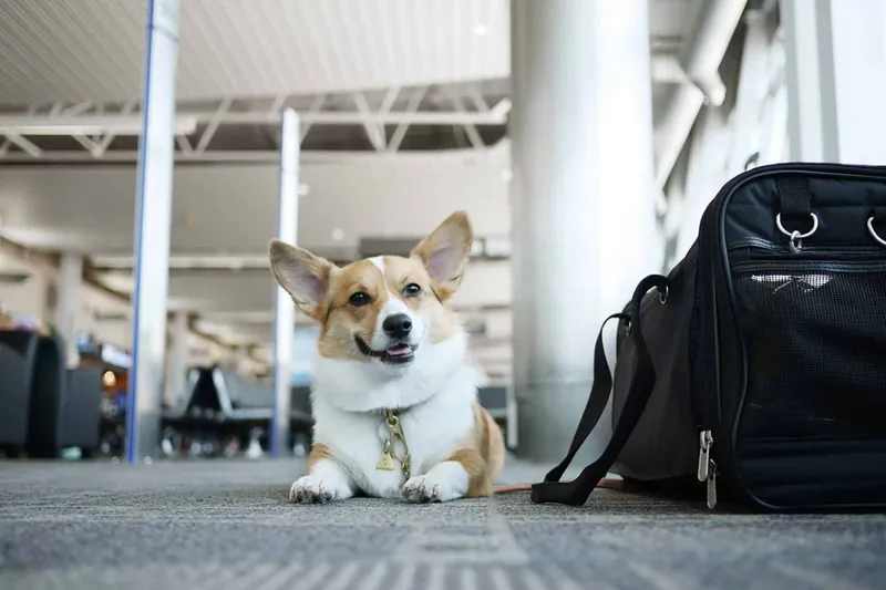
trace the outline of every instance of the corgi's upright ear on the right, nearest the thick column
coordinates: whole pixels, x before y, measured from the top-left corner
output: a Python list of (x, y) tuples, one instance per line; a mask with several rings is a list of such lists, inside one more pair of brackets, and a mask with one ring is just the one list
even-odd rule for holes
[(467, 214), (455, 211), (412, 250), (412, 256), (427, 269), (442, 300), (459, 289), (473, 242), (474, 230)]

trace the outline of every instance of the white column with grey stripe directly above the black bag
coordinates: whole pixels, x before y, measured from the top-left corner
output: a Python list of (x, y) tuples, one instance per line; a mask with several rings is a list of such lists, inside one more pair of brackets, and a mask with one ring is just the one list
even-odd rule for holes
[(791, 159), (886, 163), (886, 2), (782, 0)]

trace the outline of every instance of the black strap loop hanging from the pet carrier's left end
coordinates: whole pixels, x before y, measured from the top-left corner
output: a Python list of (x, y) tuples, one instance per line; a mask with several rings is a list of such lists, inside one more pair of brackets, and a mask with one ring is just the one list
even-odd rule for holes
[[(652, 366), (652, 359), (649, 356), (649, 350), (646, 346), (642, 328), (640, 327), (640, 306), (646, 293), (653, 287), (659, 291), (660, 297), (666, 297), (669, 283), (670, 281), (667, 277), (650, 275), (641, 280), (633, 291), (633, 297), (630, 302), (629, 320), (631, 322), (630, 338), (633, 339), (633, 344), (637, 349), (637, 370), (635, 371), (630, 389), (628, 390), (625, 407), (612, 432), (612, 437), (609, 439), (609, 443), (606, 445), (599, 458), (585, 467), (581, 474), (571, 482), (559, 482), (558, 479), (563, 476), (566, 467), (568, 467), (578, 447), (581, 446), (581, 443), (585, 442), (590, 431), (594, 429), (594, 426), (599, 421), (602, 410), (606, 407), (606, 403), (611, 395), (612, 379), (606, 363), (606, 354), (602, 348), (602, 329), (600, 330), (600, 335), (597, 337), (597, 345), (595, 346), (594, 386), (591, 387), (585, 413), (579, 421), (578, 428), (566, 458), (545, 476), (543, 483), (533, 484), (530, 497), (534, 503), (558, 503), (573, 506), (585, 504), (590, 493), (594, 491), (594, 488), (597, 487), (600, 479), (606, 476), (609, 468), (618, 458), (618, 454), (621, 453), (633, 428), (637, 426), (646, 408), (646, 403), (649, 401), (649, 395), (652, 393), (652, 389), (656, 385), (656, 371)], [(612, 317), (619, 315), (620, 314), (610, 315), (606, 321)], [(601, 376), (602, 379), (599, 379)]]

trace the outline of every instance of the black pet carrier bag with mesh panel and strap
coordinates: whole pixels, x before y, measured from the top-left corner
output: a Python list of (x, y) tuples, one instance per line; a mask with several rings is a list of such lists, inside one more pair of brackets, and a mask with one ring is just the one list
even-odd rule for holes
[[(711, 508), (886, 507), (886, 168), (736, 176), (686, 258), (609, 319), (612, 374), (598, 338), (587, 407), (534, 501), (581, 505), (615, 473)], [(610, 392), (608, 445), (560, 482)]]

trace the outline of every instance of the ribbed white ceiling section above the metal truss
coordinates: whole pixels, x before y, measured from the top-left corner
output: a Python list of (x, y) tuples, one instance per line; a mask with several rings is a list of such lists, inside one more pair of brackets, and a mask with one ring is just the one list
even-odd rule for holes
[[(505, 79), (508, 0), (181, 0), (181, 100)], [(652, 0), (653, 46), (699, 0)], [(146, 0), (0, 2), (0, 100), (138, 99)]]

